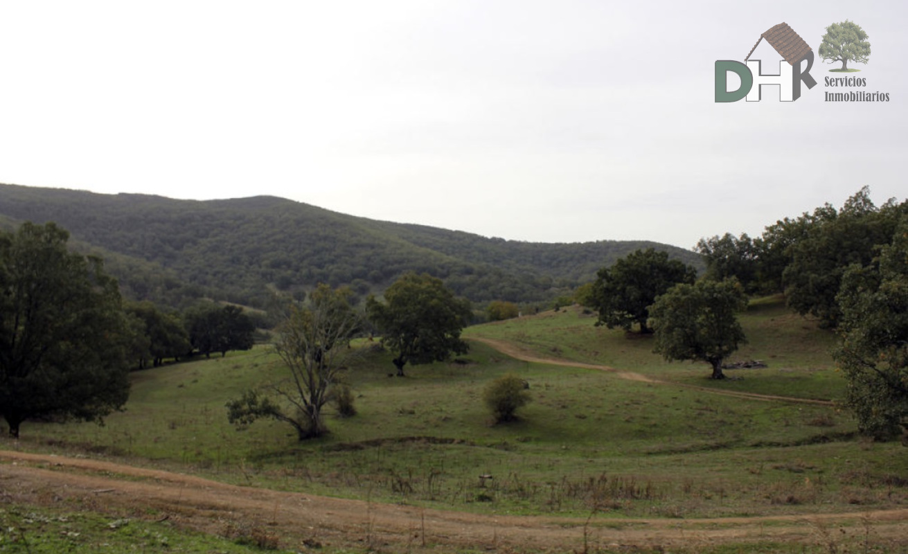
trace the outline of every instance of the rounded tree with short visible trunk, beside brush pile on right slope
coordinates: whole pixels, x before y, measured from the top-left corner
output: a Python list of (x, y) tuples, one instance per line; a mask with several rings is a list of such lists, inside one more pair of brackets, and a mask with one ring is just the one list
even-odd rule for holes
[(650, 308), (657, 354), (668, 360), (706, 361), (713, 379), (725, 379), (722, 363), (745, 342), (737, 313), (747, 307), (735, 279), (681, 283), (656, 299)]

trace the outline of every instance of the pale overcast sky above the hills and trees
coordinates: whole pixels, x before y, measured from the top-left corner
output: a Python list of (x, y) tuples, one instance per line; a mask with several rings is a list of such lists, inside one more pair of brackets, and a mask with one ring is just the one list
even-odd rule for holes
[[(715, 103), (716, 60), (782, 22), (815, 53), (845, 19), (865, 87), (817, 56), (793, 103)], [(0, 183), (690, 248), (908, 196), (906, 26), (894, 0), (0, 0)]]

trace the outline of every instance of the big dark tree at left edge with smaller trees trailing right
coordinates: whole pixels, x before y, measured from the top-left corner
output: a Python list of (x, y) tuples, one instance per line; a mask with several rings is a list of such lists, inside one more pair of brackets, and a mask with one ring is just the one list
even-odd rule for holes
[(210, 302), (180, 317), (124, 303), (96, 256), (70, 252), (54, 223), (0, 232), (0, 416), (103, 420), (123, 409), (129, 371), (164, 358), (252, 347), (242, 309)]

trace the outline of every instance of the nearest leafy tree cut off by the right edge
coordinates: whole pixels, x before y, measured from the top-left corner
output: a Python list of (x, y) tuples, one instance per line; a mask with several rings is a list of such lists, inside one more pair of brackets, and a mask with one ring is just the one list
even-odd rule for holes
[(908, 216), (878, 258), (845, 272), (837, 298), (842, 344), (834, 357), (858, 428), (877, 438), (908, 431)]

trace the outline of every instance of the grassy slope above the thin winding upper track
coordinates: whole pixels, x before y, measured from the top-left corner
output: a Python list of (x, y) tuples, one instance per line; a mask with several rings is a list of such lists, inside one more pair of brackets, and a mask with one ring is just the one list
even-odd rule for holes
[(466, 337), (510, 341), (540, 357), (603, 364), (660, 381), (817, 400), (839, 400), (844, 381), (829, 355), (832, 331), (785, 308), (780, 297), (751, 302), (740, 316), (747, 342), (729, 361), (764, 361), (759, 370), (728, 370), (725, 381), (708, 379), (706, 362), (667, 362), (653, 353), (652, 336), (596, 327), (596, 315), (577, 306), (471, 327)]

